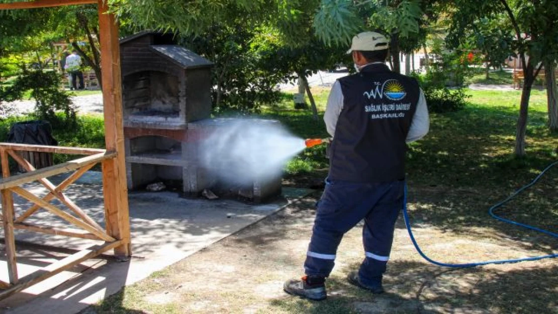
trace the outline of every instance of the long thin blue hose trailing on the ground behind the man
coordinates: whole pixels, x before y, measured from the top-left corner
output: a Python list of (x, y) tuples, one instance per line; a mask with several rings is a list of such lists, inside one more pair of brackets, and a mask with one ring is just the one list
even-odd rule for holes
[[(547, 234), (547, 235), (550, 235), (550, 236), (554, 236), (554, 238), (558, 238), (558, 234), (556, 234), (556, 233), (553, 233), (553, 232), (550, 232), (550, 231), (547, 231), (547, 230), (543, 230), (543, 229), (539, 229), (539, 228), (535, 228), (535, 227), (530, 226), (530, 225), (520, 224), (520, 223), (517, 223), (516, 221), (504, 219), (504, 218), (501, 218), (501, 217), (494, 214), (495, 209), (497, 209), (498, 207), (506, 204), (509, 200), (513, 199), (513, 197), (516, 197), (519, 193), (521, 193), (525, 189), (528, 189), (528, 187), (531, 187), (532, 185), (534, 185), (542, 177), (542, 175), (545, 174), (546, 171), (548, 171), (550, 168), (552, 168), (556, 165), (558, 165), (558, 161), (556, 161), (554, 163), (551, 163), (550, 166), (546, 167), (545, 170), (543, 170), (535, 178), (535, 180), (531, 181), (531, 183), (529, 183), (528, 185), (523, 186), (521, 189), (515, 191), (512, 195), (508, 196), (507, 199), (505, 199), (505, 200), (499, 202), (498, 204), (490, 207), (490, 209), (488, 210), (488, 213), (490, 214), (490, 216), (492, 216), (493, 218), (496, 218), (498, 220), (504, 221), (504, 223), (513, 224), (513, 225), (516, 225), (516, 226), (521, 226), (523, 228), (535, 230), (535, 231), (538, 231), (538, 232), (541, 232), (541, 233), (544, 233), (544, 234)], [(405, 197), (403, 199), (403, 218), (405, 218), (405, 225), (407, 226), (407, 231), (409, 233), (409, 236), (411, 237), (411, 241), (412, 241), (413, 245), (415, 245), (415, 248), (416, 248), (417, 252), (419, 252), (419, 254), (424, 259), (426, 259), (430, 263), (438, 265), (438, 266), (466, 268), (466, 267), (475, 267), (475, 266), (488, 265), (488, 264), (517, 263), (517, 262), (525, 262), (526, 260), (540, 260), (540, 259), (545, 259), (545, 258), (556, 258), (556, 257), (558, 257), (558, 254), (549, 254), (549, 255), (541, 255), (541, 256), (536, 256), (536, 257), (517, 258), (517, 259), (488, 260), (487, 262), (477, 262), (477, 263), (449, 264), (449, 263), (436, 262), (435, 260), (427, 257), (424, 253), (422, 253), (422, 250), (420, 249), (419, 244), (417, 244), (417, 241), (415, 240), (415, 236), (413, 235), (413, 232), (411, 230), (411, 224), (409, 223), (409, 215), (407, 214), (407, 186), (405, 186)]]

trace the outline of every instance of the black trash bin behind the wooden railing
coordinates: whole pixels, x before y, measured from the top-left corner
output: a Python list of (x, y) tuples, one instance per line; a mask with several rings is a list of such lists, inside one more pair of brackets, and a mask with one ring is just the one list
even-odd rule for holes
[[(42, 120), (17, 122), (12, 125), (8, 133), (8, 142), (17, 144), (49, 145), (57, 146), (58, 141), (52, 137), (52, 127), (50, 123)], [(21, 157), (40, 169), (54, 165), (52, 153), (40, 152), (18, 152)], [(18, 165), (18, 170), (26, 170)]]

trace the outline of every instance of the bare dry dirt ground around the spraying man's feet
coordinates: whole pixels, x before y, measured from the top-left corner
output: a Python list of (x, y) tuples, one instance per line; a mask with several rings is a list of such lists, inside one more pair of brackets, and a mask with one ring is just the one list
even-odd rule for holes
[[(449, 211), (448, 191), (411, 189), (409, 207), (417, 241), (431, 258), (471, 262), (517, 258), (556, 251), (557, 243), (507, 236), (488, 224), (466, 228), (432, 226), (429, 206)], [(474, 201), (474, 191), (457, 191)], [(350, 286), (349, 270), (363, 258), (360, 226), (341, 242), (336, 265), (326, 282), (328, 299), (311, 302), (288, 296), (283, 281), (302, 275), (319, 192), (219, 241), (217, 244), (126, 287), (94, 313), (558, 313), (556, 259), (477, 268), (442, 268), (416, 253), (402, 217), (384, 279), (387, 293), (374, 295)], [(535, 244), (533, 244), (535, 243)]]

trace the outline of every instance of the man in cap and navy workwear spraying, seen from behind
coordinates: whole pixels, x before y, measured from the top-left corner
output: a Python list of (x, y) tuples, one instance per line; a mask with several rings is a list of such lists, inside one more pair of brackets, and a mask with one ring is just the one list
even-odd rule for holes
[(406, 143), (428, 133), (424, 93), (415, 79), (385, 65), (388, 40), (376, 32), (353, 37), (347, 52), (356, 74), (335, 82), (324, 120), (333, 136), (330, 168), (306, 252), (306, 276), (287, 293), (321, 300), (341, 238), (364, 219), (365, 258), (348, 281), (382, 293), (397, 216), (405, 194)]

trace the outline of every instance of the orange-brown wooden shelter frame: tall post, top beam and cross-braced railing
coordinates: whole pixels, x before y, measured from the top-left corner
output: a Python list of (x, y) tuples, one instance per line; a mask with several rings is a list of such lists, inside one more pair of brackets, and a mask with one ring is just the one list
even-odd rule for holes
[[(73, 267), (86, 259), (93, 258), (110, 249), (119, 257), (131, 255), (131, 239), (128, 215), (128, 191), (126, 187), (126, 161), (124, 156), (124, 137), (122, 126), (122, 84), (120, 74), (120, 51), (118, 26), (113, 15), (108, 13), (104, 0), (36, 0), (29, 2), (0, 3), (0, 9), (31, 9), (40, 7), (70, 6), (76, 4), (98, 4), (99, 33), (101, 47), (101, 67), (103, 75), (103, 101), (105, 123), (104, 149), (84, 149), (55, 146), (32, 146), (12, 143), (0, 143), (0, 160), (2, 175), (0, 193), (2, 195), (2, 224), (6, 243), (6, 258), (9, 282), (0, 281), (0, 299), (12, 293), (41, 282), (57, 273)], [(52, 152), (64, 154), (88, 155), (70, 162), (35, 170), (33, 166), (16, 152)], [(28, 172), (10, 176), (8, 156), (11, 156)], [(105, 205), (105, 228), (95, 223), (78, 206), (62, 192), (83, 173), (97, 163), (102, 163), (103, 193)], [(47, 177), (60, 173), (75, 171), (60, 185), (55, 186)], [(24, 183), (39, 181), (50, 191), (42, 199), (21, 187)], [(15, 216), (12, 193), (31, 201), (32, 205), (20, 216)], [(68, 207), (72, 214), (50, 204), (50, 200), (58, 199)], [(68, 221), (79, 229), (48, 228), (25, 223), (25, 220), (38, 209), (43, 208), (52, 214)], [(23, 278), (17, 274), (16, 244), (13, 231), (28, 230), (46, 234), (65, 235), (75, 238), (96, 239), (104, 244), (95, 245), (59, 260), (35, 273)]]

